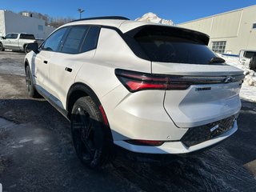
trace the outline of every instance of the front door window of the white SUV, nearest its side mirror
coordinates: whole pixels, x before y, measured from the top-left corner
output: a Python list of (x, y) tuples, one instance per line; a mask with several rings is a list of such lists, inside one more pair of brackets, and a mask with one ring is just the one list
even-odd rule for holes
[(58, 47), (62, 42), (62, 38), (66, 34), (67, 28), (62, 28), (51, 34), (49, 38), (46, 39), (46, 42), (42, 45), (41, 49), (46, 51), (58, 51)]

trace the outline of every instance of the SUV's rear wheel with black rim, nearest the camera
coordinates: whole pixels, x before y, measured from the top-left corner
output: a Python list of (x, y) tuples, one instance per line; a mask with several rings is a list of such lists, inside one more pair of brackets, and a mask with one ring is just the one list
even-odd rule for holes
[(113, 142), (110, 142), (107, 130), (99, 107), (89, 96), (74, 103), (71, 134), (78, 158), (86, 166), (98, 168), (110, 160)]

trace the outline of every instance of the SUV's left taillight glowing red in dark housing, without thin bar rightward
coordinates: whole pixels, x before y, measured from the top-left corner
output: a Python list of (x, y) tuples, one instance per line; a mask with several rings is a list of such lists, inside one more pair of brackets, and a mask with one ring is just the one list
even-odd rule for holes
[(119, 69), (115, 70), (115, 74), (132, 93), (139, 90), (186, 90), (190, 86), (182, 82), (182, 76), (179, 75), (146, 74)]

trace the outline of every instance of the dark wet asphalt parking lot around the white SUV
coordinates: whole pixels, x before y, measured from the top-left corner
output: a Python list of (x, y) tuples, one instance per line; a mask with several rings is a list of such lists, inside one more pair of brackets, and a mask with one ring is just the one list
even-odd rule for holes
[(24, 56), (0, 53), (3, 191), (256, 191), (256, 103), (242, 100), (239, 130), (210, 150), (162, 163), (118, 157), (91, 170), (76, 157), (66, 118), (26, 95)]

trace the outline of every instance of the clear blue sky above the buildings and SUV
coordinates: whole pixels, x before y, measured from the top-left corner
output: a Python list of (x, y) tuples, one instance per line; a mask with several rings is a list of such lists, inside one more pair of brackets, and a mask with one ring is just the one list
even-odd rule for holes
[(77, 10), (82, 8), (83, 18), (118, 15), (130, 19), (153, 12), (178, 24), (255, 4), (255, 0), (1, 0), (0, 10), (30, 10), (52, 17), (79, 18)]

